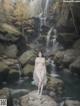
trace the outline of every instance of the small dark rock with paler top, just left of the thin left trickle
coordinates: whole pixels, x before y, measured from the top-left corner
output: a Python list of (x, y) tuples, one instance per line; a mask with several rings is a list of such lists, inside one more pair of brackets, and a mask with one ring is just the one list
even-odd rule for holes
[(16, 69), (10, 69), (8, 78), (8, 82), (15, 82), (19, 80), (19, 71)]

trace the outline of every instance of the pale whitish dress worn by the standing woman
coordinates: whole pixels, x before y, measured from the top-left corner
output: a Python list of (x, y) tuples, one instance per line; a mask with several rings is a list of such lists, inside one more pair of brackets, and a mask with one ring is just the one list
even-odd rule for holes
[(36, 58), (33, 79), (37, 86), (38, 86), (40, 80), (43, 82), (44, 86), (46, 85), (47, 75), (46, 75), (45, 58), (43, 58), (43, 57)]

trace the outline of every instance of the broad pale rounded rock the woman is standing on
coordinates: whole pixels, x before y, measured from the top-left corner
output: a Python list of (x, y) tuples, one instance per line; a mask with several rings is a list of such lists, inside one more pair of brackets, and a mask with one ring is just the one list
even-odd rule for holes
[(21, 106), (58, 106), (58, 104), (49, 96), (42, 95), (41, 98), (37, 91), (32, 91), (28, 95), (20, 98)]

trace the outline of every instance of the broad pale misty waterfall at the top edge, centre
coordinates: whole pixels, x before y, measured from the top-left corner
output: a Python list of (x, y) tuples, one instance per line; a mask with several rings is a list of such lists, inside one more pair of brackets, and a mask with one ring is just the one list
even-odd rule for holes
[(47, 17), (50, 0), (30, 0), (29, 11), (31, 17), (36, 17), (42, 14)]

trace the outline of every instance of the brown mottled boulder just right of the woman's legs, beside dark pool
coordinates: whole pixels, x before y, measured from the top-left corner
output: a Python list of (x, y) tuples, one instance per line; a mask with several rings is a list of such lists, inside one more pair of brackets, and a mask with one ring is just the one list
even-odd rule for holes
[(63, 94), (64, 83), (58, 78), (48, 78), (46, 89), (50, 92), (54, 92), (56, 95)]

